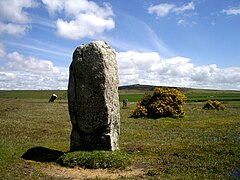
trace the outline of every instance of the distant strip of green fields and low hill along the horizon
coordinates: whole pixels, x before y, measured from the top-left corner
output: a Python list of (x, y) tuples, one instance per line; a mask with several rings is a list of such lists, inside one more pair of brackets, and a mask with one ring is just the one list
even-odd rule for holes
[[(131, 85), (119, 87), (119, 100), (128, 99), (129, 102), (137, 102), (144, 97), (144, 94), (152, 93), (157, 86), (148, 85)], [(164, 87), (163, 87), (164, 88)], [(207, 100), (218, 101), (239, 101), (240, 91), (224, 91), (224, 90), (204, 90), (177, 88), (187, 96), (186, 101), (200, 102)], [(66, 90), (16, 90), (16, 91), (0, 91), (0, 97), (16, 98), (16, 99), (49, 99), (52, 94), (58, 95), (58, 100), (67, 100)]]

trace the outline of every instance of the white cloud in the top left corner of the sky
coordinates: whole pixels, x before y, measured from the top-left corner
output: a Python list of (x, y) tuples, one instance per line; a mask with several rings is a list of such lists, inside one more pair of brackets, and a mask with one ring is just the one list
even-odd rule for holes
[(35, 0), (0, 1), (0, 34), (23, 35), (30, 28), (26, 8), (35, 8)]

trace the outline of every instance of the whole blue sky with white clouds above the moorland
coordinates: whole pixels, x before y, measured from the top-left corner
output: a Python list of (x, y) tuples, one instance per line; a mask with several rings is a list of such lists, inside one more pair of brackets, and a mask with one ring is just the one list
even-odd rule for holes
[(67, 89), (74, 49), (104, 40), (120, 85), (240, 90), (239, 0), (0, 0), (0, 89)]

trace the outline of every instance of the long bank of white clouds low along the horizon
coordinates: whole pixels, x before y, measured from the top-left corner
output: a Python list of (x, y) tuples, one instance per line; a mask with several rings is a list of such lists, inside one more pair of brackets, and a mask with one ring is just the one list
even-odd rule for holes
[[(157, 52), (116, 54), (120, 85), (139, 83), (240, 90), (240, 67), (195, 66), (189, 58), (163, 59)], [(0, 89), (67, 89), (68, 68), (18, 52), (5, 53), (1, 59), (5, 59), (2, 61), (5, 64), (0, 67)]]

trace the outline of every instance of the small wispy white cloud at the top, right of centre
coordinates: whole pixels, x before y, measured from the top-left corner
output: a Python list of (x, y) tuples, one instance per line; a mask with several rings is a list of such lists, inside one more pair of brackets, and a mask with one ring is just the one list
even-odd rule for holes
[(175, 4), (161, 3), (158, 5), (150, 6), (148, 8), (148, 13), (156, 13), (159, 17), (167, 16), (169, 13), (184, 13), (186, 11), (195, 10), (194, 1), (182, 6), (176, 6)]

